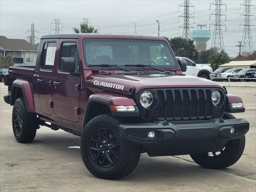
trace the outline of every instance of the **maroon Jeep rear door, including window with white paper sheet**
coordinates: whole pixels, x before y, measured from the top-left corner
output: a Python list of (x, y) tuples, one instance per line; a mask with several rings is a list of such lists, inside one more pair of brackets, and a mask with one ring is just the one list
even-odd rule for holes
[(34, 74), (37, 92), (39, 96), (42, 112), (52, 115), (52, 94), (54, 88), (51, 85), (52, 76), (54, 76), (54, 62), (56, 62), (56, 48), (58, 40), (48, 40), (43, 42), (42, 60), (39, 64), (39, 70)]

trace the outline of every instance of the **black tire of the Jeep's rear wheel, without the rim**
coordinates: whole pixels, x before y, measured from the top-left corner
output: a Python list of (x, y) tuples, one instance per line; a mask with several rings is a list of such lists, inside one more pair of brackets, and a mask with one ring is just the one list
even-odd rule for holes
[[(22, 117), (22, 126), (20, 133), (17, 134), (15, 128), (15, 120), (16, 120), (16, 110), (17, 108), (20, 109), (21, 117)], [(26, 103), (24, 98), (18, 98), (14, 102), (14, 106), (12, 109), (12, 130), (15, 139), (20, 143), (29, 143), (32, 142), (36, 136), (36, 129), (37, 129), (37, 118), (35, 113), (28, 112), (26, 108)]]

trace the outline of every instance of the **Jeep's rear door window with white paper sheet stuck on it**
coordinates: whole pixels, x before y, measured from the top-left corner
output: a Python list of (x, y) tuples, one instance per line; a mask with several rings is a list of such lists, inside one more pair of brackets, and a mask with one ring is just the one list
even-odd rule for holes
[(54, 66), (56, 42), (46, 42), (43, 50), (42, 69), (52, 70)]

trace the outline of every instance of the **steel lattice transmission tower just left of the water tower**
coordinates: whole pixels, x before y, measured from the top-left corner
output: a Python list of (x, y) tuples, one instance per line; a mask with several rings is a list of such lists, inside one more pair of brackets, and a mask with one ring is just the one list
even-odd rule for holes
[(179, 28), (183, 28), (182, 38), (185, 38), (186, 40), (191, 39), (190, 30), (189, 28), (194, 28), (189, 24), (189, 19), (194, 18), (189, 12), (190, 7), (194, 7), (194, 5), (189, 3), (189, 0), (184, 0), (184, 3), (179, 5), (179, 7), (184, 7), (184, 13), (179, 16), (184, 18), (184, 24), (179, 26)]

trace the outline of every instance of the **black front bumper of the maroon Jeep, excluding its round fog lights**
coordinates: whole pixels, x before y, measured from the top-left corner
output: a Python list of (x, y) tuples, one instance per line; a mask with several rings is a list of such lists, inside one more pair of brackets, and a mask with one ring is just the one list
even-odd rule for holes
[[(231, 135), (230, 129), (236, 132)], [(209, 119), (175, 122), (120, 124), (122, 139), (142, 145), (149, 156), (198, 154), (220, 151), (228, 140), (237, 139), (249, 130), (246, 119)], [(148, 138), (154, 131), (155, 137)]]

